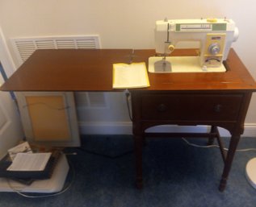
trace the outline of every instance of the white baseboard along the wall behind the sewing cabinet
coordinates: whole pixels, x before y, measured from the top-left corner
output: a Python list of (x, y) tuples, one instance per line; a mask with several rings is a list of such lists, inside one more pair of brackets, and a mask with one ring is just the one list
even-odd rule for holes
[[(79, 122), (82, 135), (132, 135), (132, 122)], [(230, 136), (229, 131), (220, 128), (221, 136)], [(208, 132), (209, 126), (153, 126), (148, 132)], [(256, 123), (246, 123), (242, 137), (256, 137)]]

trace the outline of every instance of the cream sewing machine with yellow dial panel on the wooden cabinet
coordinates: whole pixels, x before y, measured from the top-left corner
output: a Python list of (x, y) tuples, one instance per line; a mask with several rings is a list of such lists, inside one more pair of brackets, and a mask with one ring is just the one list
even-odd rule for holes
[[(231, 44), (238, 29), (231, 19), (174, 19), (156, 22), (157, 56), (149, 57), (149, 72), (225, 72)], [(170, 56), (178, 44), (191, 47), (196, 42), (198, 56)]]

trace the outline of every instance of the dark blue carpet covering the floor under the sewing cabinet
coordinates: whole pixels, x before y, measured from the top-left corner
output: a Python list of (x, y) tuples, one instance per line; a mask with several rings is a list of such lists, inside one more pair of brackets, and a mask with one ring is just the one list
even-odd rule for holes
[[(188, 139), (204, 145), (206, 139)], [(256, 147), (243, 138), (239, 148)], [(65, 207), (253, 207), (256, 189), (248, 184), (246, 163), (256, 151), (237, 152), (225, 192), (218, 190), (223, 168), (217, 148), (188, 146), (182, 139), (147, 139), (144, 148), (144, 188), (135, 188), (132, 137), (84, 136), (81, 148), (66, 152), (75, 172), (73, 185), (57, 197), (27, 198), (0, 193), (0, 206)], [(69, 172), (67, 183), (72, 180)]]

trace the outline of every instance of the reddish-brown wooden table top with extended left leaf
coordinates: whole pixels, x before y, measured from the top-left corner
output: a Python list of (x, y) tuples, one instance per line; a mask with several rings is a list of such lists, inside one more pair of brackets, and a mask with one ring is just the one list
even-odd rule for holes
[[(131, 49), (37, 50), (2, 86), (3, 91), (115, 91), (112, 64), (129, 63)], [(154, 50), (135, 50), (133, 62), (148, 64)], [(176, 50), (173, 56), (195, 56)], [(233, 49), (225, 61), (227, 72), (149, 73), (143, 90), (256, 90), (250, 72)]]

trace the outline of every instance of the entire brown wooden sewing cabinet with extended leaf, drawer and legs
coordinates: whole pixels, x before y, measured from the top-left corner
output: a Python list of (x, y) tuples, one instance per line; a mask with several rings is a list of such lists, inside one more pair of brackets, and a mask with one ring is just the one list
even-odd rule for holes
[[(132, 54), (132, 55), (131, 55)], [(174, 56), (195, 56), (177, 50)], [(112, 89), (112, 64), (148, 63), (153, 50), (40, 50), (36, 51), (1, 89), (10, 91), (120, 91)], [(149, 73), (150, 87), (130, 89), (132, 132), (136, 155), (136, 186), (142, 188), (142, 148), (150, 126), (211, 126), (209, 133), (157, 134), (203, 136), (217, 139), (224, 160), (220, 191), (225, 189), (237, 143), (244, 130), (246, 112), (256, 83), (233, 49), (225, 61), (227, 72)], [(229, 151), (224, 151), (217, 126), (229, 130)]]

